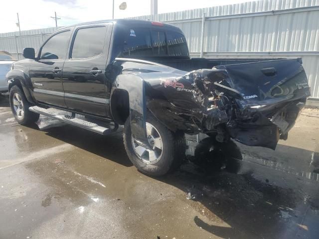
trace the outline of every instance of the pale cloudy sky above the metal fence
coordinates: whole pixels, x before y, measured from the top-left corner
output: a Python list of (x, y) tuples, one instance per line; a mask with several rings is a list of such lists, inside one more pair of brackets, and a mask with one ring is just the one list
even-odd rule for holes
[[(121, 2), (127, 2), (127, 9), (120, 10)], [(250, 0), (158, 0), (158, 12), (233, 4)], [(55, 26), (54, 11), (58, 26), (84, 21), (112, 18), (112, 0), (1, 0), (0, 32), (18, 31), (19, 13), (21, 30)], [(150, 14), (151, 0), (115, 0), (115, 18)]]

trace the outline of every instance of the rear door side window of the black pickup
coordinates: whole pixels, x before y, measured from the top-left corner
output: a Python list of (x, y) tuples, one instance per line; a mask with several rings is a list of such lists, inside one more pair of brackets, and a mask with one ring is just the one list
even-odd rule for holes
[(105, 26), (79, 29), (75, 35), (71, 58), (89, 58), (100, 55), (104, 48), (106, 30)]

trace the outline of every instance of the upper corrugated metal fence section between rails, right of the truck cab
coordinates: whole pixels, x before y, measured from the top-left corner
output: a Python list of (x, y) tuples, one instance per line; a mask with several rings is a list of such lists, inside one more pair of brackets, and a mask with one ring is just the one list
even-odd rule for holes
[[(204, 51), (319, 51), (318, 19), (319, 7), (286, 14), (208, 18)], [(199, 49), (201, 19), (168, 23), (184, 31), (191, 52)]]

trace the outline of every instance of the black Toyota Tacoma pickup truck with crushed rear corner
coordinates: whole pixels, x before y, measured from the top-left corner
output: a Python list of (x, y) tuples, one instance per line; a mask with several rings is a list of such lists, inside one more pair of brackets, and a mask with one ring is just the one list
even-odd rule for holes
[(68, 26), (23, 56), (6, 75), (19, 123), (42, 114), (103, 135), (124, 125), (130, 160), (155, 176), (181, 164), (184, 133), (275, 149), (310, 96), (301, 59), (190, 58), (182, 31), (161, 22)]

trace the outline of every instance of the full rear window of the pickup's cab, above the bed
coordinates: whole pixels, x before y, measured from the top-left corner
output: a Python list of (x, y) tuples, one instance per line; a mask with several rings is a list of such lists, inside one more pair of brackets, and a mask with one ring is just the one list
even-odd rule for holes
[(185, 37), (179, 32), (140, 27), (126, 31), (123, 55), (188, 56), (188, 47)]

